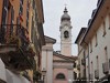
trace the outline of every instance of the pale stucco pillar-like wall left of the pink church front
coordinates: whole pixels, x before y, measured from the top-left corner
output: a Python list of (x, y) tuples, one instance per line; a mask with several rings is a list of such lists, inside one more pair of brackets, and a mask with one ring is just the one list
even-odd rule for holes
[(45, 83), (53, 83), (53, 44), (43, 46), (42, 70), (46, 70)]

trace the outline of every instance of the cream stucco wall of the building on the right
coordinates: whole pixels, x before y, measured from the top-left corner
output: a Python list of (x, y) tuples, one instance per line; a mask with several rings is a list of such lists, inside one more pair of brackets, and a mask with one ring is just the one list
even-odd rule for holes
[[(105, 48), (107, 46), (107, 55), (108, 55), (108, 62), (110, 59), (110, 17), (109, 13), (106, 15), (106, 18), (103, 18), (103, 21), (106, 22), (106, 35), (103, 35), (103, 24), (102, 22), (99, 25), (97, 33), (97, 40), (98, 40), (98, 45), (96, 46), (96, 38), (94, 35), (94, 38), (91, 39), (92, 41), (92, 52), (89, 53), (89, 65), (90, 65), (90, 73), (94, 74), (94, 79), (95, 79), (95, 70), (97, 69), (97, 56), (98, 56), (98, 61), (99, 61), (99, 79), (103, 77), (105, 74), (102, 72), (102, 63), (107, 62), (106, 60), (106, 54), (105, 54)], [(90, 44), (89, 44), (90, 45)], [(92, 62), (92, 69), (94, 72), (91, 72), (91, 62)], [(88, 61), (87, 61), (88, 64)], [(88, 71), (88, 70), (87, 70)]]

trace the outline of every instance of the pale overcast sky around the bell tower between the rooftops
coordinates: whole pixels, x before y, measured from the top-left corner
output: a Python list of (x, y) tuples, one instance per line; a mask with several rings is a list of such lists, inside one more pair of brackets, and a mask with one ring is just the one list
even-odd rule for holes
[(72, 30), (72, 53), (77, 55), (78, 50), (75, 40), (81, 28), (86, 27), (91, 18), (92, 10), (97, 8), (98, 0), (43, 0), (44, 11), (44, 34), (56, 39), (54, 50), (61, 50), (61, 17), (64, 13), (65, 6), (70, 15)]

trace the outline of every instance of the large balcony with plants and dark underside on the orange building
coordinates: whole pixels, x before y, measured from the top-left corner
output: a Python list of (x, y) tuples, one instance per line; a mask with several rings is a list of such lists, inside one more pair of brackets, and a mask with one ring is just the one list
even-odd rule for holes
[[(11, 28), (15, 28), (16, 32), (12, 33)], [(0, 40), (0, 58), (8, 69), (23, 71), (33, 68), (35, 53), (30, 46), (30, 41), (25, 35), (25, 29), (20, 24), (3, 24), (3, 39)]]

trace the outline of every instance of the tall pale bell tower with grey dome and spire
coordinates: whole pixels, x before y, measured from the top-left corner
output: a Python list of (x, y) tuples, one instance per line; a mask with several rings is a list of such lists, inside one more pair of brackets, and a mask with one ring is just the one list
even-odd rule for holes
[(67, 8), (64, 9), (64, 14), (61, 18), (61, 54), (70, 56), (72, 55), (72, 24), (70, 17)]

